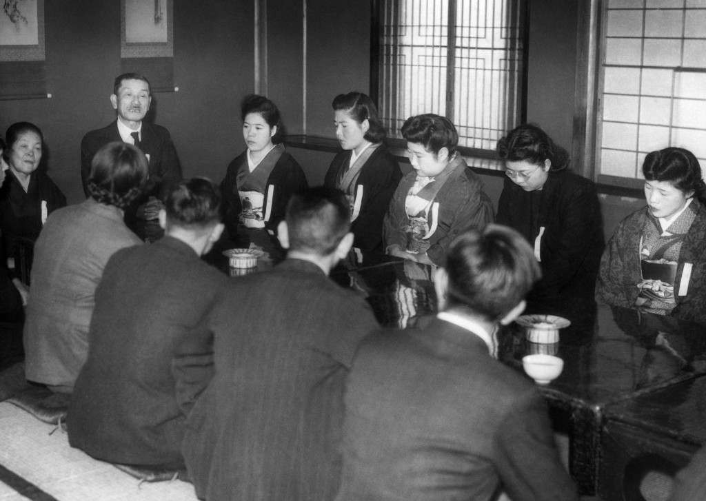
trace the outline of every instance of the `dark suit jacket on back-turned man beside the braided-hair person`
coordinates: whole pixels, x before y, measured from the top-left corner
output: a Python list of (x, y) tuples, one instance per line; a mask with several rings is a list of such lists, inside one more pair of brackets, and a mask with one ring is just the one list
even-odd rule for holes
[(71, 398), (71, 446), (114, 463), (183, 467), (172, 358), (226, 281), (172, 236), (110, 258)]

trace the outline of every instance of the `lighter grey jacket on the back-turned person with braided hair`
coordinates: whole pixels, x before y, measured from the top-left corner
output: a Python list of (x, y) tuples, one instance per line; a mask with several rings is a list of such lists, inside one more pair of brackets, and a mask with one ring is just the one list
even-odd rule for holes
[(25, 320), (27, 379), (72, 387), (88, 352), (95, 289), (116, 250), (141, 243), (120, 210), (88, 198), (56, 210), (35, 243)]

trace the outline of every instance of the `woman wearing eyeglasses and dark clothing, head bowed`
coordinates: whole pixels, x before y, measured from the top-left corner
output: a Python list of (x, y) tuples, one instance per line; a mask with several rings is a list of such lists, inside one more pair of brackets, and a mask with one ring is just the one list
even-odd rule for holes
[(527, 313), (590, 322), (604, 247), (594, 183), (570, 171), (568, 152), (530, 123), (501, 138), (497, 151), (507, 176), (497, 222), (520, 231), (542, 266)]

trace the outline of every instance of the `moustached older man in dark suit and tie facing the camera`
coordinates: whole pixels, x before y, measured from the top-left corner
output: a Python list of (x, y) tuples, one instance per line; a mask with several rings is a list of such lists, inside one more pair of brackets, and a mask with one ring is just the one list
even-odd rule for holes
[(152, 104), (150, 83), (138, 73), (123, 73), (115, 78), (110, 103), (117, 119), (109, 126), (90, 131), (81, 141), (81, 181), (88, 196), (88, 174), (93, 155), (106, 143), (122, 141), (137, 146), (148, 159), (150, 177), (145, 193), (137, 200), (132, 211), (126, 213), (130, 221), (157, 219), (169, 184), (181, 179), (181, 164), (169, 131), (154, 123), (145, 122), (145, 115)]

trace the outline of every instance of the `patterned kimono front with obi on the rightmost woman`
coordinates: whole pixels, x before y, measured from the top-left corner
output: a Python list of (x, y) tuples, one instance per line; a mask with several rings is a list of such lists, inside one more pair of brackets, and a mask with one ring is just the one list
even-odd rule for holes
[[(639, 298), (646, 300), (643, 308), (652, 313), (667, 315), (676, 306), (675, 291), (686, 296), (691, 266), (684, 265), (681, 283), (676, 284), (681, 246), (696, 218), (692, 205), (662, 231), (659, 220), (647, 215), (640, 239), (640, 272), (642, 288)], [(645, 283), (650, 284), (646, 287)]]

